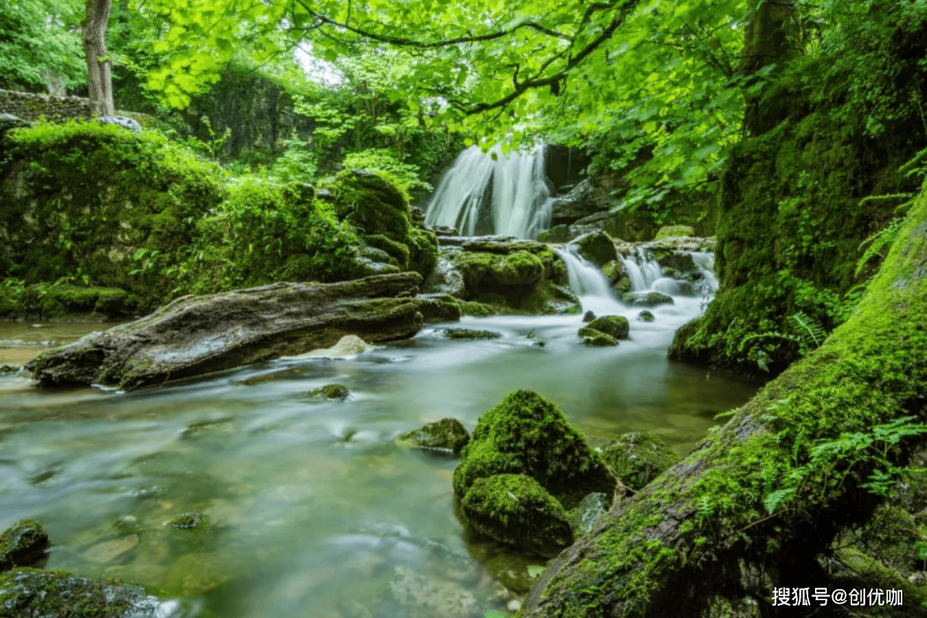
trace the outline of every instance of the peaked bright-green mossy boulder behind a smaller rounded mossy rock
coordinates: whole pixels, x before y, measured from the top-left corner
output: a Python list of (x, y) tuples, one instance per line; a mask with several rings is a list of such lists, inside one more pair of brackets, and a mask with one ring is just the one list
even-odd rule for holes
[(591, 492), (615, 488), (602, 456), (557, 406), (529, 390), (509, 393), (484, 412), (462, 455), (453, 477), (458, 498), (476, 479), (504, 473), (528, 474), (566, 508)]

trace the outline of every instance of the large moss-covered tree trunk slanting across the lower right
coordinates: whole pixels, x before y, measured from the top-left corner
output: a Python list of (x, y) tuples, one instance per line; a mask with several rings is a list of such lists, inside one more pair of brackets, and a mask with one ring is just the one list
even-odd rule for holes
[[(878, 503), (862, 486), (879, 460), (885, 467), (878, 453), (897, 465), (908, 452), (903, 440), (834, 443), (845, 433), (864, 444), (879, 425), (923, 420), (924, 397), (927, 189), (853, 317), (687, 458), (616, 503), (552, 562), (519, 615), (685, 618), (750, 597), (761, 615), (779, 615), (771, 587), (825, 586), (816, 558)], [(832, 448), (815, 448), (824, 443)]]

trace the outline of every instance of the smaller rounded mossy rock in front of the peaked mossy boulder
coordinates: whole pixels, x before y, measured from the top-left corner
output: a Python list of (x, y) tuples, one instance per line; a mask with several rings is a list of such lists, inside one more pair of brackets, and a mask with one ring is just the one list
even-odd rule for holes
[(556, 556), (573, 543), (563, 506), (525, 474), (477, 478), (461, 508), (479, 532), (541, 556)]

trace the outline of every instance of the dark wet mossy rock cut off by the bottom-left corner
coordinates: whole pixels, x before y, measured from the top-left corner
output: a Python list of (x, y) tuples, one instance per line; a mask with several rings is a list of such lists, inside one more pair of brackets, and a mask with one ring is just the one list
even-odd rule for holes
[(63, 571), (0, 574), (0, 618), (160, 618), (174, 615), (140, 586), (95, 582)]

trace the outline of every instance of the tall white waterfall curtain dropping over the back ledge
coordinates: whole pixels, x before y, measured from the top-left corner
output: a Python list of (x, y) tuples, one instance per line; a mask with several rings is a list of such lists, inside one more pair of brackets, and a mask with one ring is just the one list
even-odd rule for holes
[(497, 233), (535, 238), (551, 221), (544, 147), (529, 153), (483, 153), (473, 145), (454, 160), (425, 208), (425, 223), (465, 236)]

